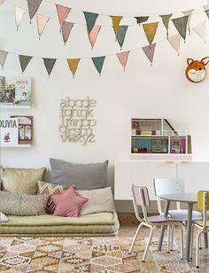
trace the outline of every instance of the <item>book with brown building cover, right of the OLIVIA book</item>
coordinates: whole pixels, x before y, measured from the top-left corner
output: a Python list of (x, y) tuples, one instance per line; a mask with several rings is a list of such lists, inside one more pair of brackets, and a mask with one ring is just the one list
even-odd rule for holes
[(19, 144), (32, 144), (33, 142), (33, 117), (32, 116), (11, 116), (19, 120)]

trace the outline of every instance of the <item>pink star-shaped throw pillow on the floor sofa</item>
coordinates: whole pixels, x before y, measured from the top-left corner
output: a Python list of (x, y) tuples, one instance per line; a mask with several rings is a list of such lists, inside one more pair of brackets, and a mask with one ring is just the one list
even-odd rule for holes
[(56, 205), (54, 215), (78, 217), (81, 207), (89, 200), (78, 196), (71, 185), (63, 194), (50, 197)]

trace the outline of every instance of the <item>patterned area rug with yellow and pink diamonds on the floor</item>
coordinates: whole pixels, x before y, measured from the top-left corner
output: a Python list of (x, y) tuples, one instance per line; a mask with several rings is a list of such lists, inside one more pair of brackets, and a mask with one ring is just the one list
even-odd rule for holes
[(172, 253), (157, 252), (153, 240), (147, 261), (141, 262), (146, 238), (138, 238), (129, 256), (132, 238), (0, 238), (0, 272), (193, 272)]

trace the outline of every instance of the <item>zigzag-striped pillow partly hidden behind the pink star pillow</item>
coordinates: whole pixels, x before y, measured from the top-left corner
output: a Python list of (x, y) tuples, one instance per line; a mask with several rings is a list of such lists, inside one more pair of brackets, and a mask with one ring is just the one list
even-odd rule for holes
[[(47, 195), (55, 195), (55, 194), (62, 194), (64, 193), (70, 185), (56, 185), (54, 183), (46, 183), (43, 181), (38, 181), (38, 193), (37, 194), (47, 194)], [(47, 204), (47, 213), (53, 214), (55, 211), (56, 205), (54, 201), (49, 198)]]

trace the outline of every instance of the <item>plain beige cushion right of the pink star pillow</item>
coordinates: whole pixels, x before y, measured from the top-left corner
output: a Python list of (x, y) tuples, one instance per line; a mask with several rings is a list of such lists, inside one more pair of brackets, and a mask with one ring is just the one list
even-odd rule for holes
[(81, 216), (86, 214), (113, 213), (115, 212), (114, 200), (112, 198), (112, 189), (107, 187), (91, 191), (76, 191), (82, 197), (88, 198), (83, 207), (81, 207)]

